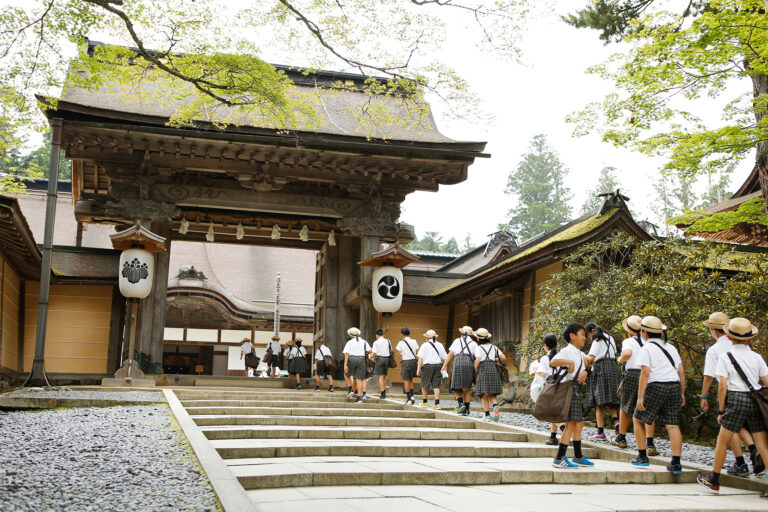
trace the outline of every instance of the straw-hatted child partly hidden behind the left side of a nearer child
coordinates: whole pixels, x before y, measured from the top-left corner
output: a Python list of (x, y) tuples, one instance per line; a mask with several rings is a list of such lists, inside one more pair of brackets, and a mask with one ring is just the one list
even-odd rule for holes
[[(643, 340), (640, 337), (640, 322), (642, 318), (632, 315), (625, 318), (621, 325), (627, 333), (627, 339), (621, 342), (621, 356), (619, 363), (624, 364), (624, 379), (621, 381), (621, 409), (619, 410), (619, 432), (611, 438), (611, 444), (619, 448), (627, 447), (627, 429), (632, 414), (637, 405), (637, 386), (640, 383), (640, 349), (643, 348)], [(656, 432), (656, 424), (646, 425), (646, 451), (649, 456), (658, 455), (653, 444), (653, 435)]]

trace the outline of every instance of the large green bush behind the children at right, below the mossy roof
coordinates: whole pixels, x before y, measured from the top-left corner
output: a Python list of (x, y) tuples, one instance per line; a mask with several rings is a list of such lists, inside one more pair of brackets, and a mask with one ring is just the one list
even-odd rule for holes
[[(750, 269), (732, 272), (722, 269)], [(560, 336), (568, 322), (593, 321), (623, 339), (621, 320), (629, 315), (654, 315), (669, 328), (686, 369), (688, 407), (684, 430), (694, 437), (716, 432), (714, 415), (698, 416), (700, 378), (706, 349), (714, 343), (701, 322), (713, 311), (744, 316), (759, 328), (768, 327), (768, 257), (735, 253), (709, 242), (679, 239), (637, 243), (627, 236), (581, 247), (564, 259), (564, 269), (541, 286), (529, 340), (529, 356), (543, 353), (545, 333)], [(562, 340), (560, 341), (562, 344)], [(768, 348), (762, 335), (753, 349)]]

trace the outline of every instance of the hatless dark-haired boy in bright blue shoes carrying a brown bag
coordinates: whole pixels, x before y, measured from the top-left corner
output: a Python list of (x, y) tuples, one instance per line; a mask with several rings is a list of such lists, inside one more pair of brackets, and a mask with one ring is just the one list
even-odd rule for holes
[[(552, 368), (568, 367), (562, 382), (576, 382), (571, 395), (571, 409), (565, 420), (565, 430), (560, 436), (560, 444), (557, 447), (557, 455), (552, 461), (556, 468), (577, 468), (579, 466), (594, 466), (595, 463), (581, 451), (581, 431), (584, 428), (584, 408), (581, 405), (581, 389), (579, 386), (587, 380), (587, 362), (584, 353), (580, 350), (587, 341), (587, 333), (584, 326), (577, 322), (571, 322), (563, 331), (563, 339), (567, 343), (564, 349), (555, 354), (549, 366)], [(565, 452), (568, 443), (573, 441), (573, 459), (568, 460)]]

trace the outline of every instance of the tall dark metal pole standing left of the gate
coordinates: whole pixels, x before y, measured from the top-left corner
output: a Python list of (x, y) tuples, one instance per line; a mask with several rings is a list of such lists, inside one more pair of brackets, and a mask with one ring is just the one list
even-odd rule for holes
[(51, 288), (51, 259), (53, 258), (53, 226), (56, 220), (56, 200), (59, 189), (59, 160), (61, 158), (61, 119), (51, 119), (51, 164), (48, 173), (48, 197), (45, 204), (45, 235), (43, 261), (40, 268), (40, 299), (37, 302), (37, 336), (32, 371), (22, 386), (50, 386), (45, 374), (45, 330), (48, 323), (48, 298)]

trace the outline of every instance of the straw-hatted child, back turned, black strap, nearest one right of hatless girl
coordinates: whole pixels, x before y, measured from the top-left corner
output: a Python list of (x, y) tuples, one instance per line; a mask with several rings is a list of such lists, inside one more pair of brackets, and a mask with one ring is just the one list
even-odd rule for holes
[[(667, 465), (667, 471), (679, 475), (683, 472), (680, 409), (685, 405), (685, 370), (677, 349), (666, 341), (666, 330), (655, 316), (646, 316), (640, 321), (643, 348), (638, 359), (641, 369), (634, 414), (637, 457), (630, 463), (643, 467), (650, 465), (645, 428), (659, 418), (667, 428), (672, 449), (672, 461)], [(664, 339), (661, 339), (662, 335)]]

